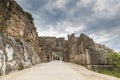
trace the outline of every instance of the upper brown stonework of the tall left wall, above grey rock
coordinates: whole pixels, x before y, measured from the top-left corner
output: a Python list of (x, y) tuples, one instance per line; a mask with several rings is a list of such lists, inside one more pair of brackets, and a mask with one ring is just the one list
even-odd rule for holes
[(34, 50), (40, 54), (36, 28), (14, 0), (0, 0), (0, 27), (7, 35), (31, 42)]

